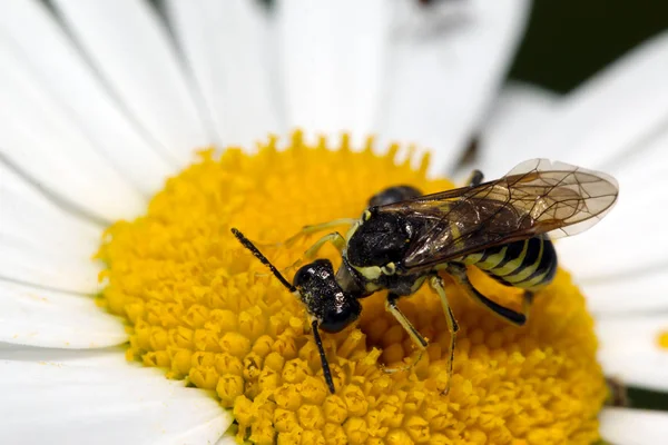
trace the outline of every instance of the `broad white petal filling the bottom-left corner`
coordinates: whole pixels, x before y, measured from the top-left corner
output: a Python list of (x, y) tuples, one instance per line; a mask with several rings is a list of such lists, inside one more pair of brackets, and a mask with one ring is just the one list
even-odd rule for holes
[[(124, 360), (118, 355), (119, 362)], [(158, 369), (0, 362), (0, 443), (215, 443), (232, 416)]]

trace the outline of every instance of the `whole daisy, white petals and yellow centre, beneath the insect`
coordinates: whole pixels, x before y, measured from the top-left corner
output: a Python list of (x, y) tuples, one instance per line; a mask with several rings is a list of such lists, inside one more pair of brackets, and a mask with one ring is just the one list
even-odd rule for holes
[[(662, 208), (668, 38), (564, 98), (525, 87), (498, 96), (528, 3), (430, 8), (3, 6), (1, 443), (666, 436), (664, 413), (602, 408), (595, 355), (598, 336), (606, 374), (668, 386), (659, 347), (668, 319), (657, 315), (667, 243), (658, 229), (644, 236), (637, 217)], [(305, 132), (291, 136), (296, 127)], [(559, 158), (615, 174), (619, 208), (559, 243), (572, 277), (558, 274), (522, 329), (446, 284), (462, 326), (448, 396), (448, 334), (426, 290), (402, 301), (432, 339), (410, 373), (381, 369), (411, 354), (382, 298), (365, 301), (357, 326), (323, 336), (337, 388), (330, 395), (303, 308), (229, 227), (289, 269), (315, 238), (276, 241), (304, 224), (354, 217), (390, 185), (452, 187), (433, 178), (454, 172), (480, 131), (488, 178), (515, 160)], [(428, 159), (394, 140), (435, 150)], [(473, 278), (500, 301), (517, 297)]]

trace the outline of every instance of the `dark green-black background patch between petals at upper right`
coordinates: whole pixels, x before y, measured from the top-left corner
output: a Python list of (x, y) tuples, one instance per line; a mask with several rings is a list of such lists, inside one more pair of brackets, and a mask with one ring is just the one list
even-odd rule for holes
[(539, 0), (510, 77), (567, 92), (666, 29), (666, 1)]

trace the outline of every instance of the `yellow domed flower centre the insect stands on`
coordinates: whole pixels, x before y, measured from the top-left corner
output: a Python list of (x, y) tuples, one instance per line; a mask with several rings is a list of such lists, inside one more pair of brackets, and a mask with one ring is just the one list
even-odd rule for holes
[[(255, 444), (591, 444), (607, 397), (584, 299), (568, 273), (536, 295), (519, 328), (471, 301), (443, 275), (460, 325), (450, 392), (448, 333), (429, 286), (400, 308), (429, 339), (418, 357), (385, 312), (385, 294), (362, 300), (360, 320), (322, 333), (336, 388), (325, 384), (302, 303), (232, 236), (237, 227), (292, 278), (325, 234), (284, 241), (310, 224), (356, 218), (395, 185), (452, 188), (429, 179), (428, 157), (392, 146), (384, 155), (269, 138), (255, 154), (202, 151), (167, 180), (146, 215), (104, 235), (99, 301), (127, 320), (127, 357), (210, 390)], [(400, 156), (404, 154), (404, 156)], [(406, 155), (407, 154), (407, 155)], [(347, 227), (328, 229), (345, 234)], [(334, 266), (341, 257), (323, 247)], [(519, 308), (521, 294), (472, 268), (485, 296)], [(390, 374), (386, 368), (407, 370)]]

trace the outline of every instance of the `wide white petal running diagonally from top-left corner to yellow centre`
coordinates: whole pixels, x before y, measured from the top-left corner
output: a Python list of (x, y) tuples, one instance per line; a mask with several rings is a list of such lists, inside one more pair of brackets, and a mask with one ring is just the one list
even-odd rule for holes
[[(0, 121), (0, 126), (9, 129), (2, 128), (0, 134), (23, 129), (31, 140), (45, 140), (40, 151), (32, 146), (6, 145), (4, 149), (10, 151), (9, 157), (14, 162), (20, 161), (26, 171), (37, 174), (41, 170), (36, 170), (30, 164), (40, 159), (56, 158), (55, 162), (46, 162), (47, 166), (66, 162), (77, 166), (76, 162), (95, 158), (78, 172), (80, 177), (89, 175), (97, 178), (100, 188), (108, 190), (114, 186), (102, 184), (108, 176), (105, 170), (110, 167), (145, 195), (161, 186), (171, 166), (161, 156), (159, 146), (148, 140), (136, 122), (126, 117), (41, 2), (17, 0), (7, 4), (0, 14), (0, 52), (3, 70), (9, 71), (4, 72), (4, 81), (0, 85), (0, 95), (8, 105), (9, 115)], [(13, 76), (9, 76), (12, 72)], [(35, 105), (26, 109), (28, 103), (23, 101)], [(48, 113), (41, 109), (45, 103), (49, 107)], [(17, 112), (20, 110), (26, 113)], [(62, 130), (58, 136), (66, 138), (73, 135), (80, 147), (72, 147), (69, 138), (51, 138), (59, 128)], [(59, 150), (53, 150), (53, 146), (58, 146)], [(19, 156), (23, 151), (26, 154)], [(58, 159), (68, 152), (71, 152), (68, 158)], [(30, 157), (26, 159), (27, 156)], [(77, 192), (76, 187), (68, 187), (68, 178), (53, 175), (52, 169), (36, 179), (49, 185), (53, 192), (76, 198), (71, 196)], [(88, 190), (88, 196), (98, 190), (91, 187), (82, 189)], [(99, 196), (95, 200), (100, 202), (78, 204), (86, 204), (92, 209), (106, 206)]]

